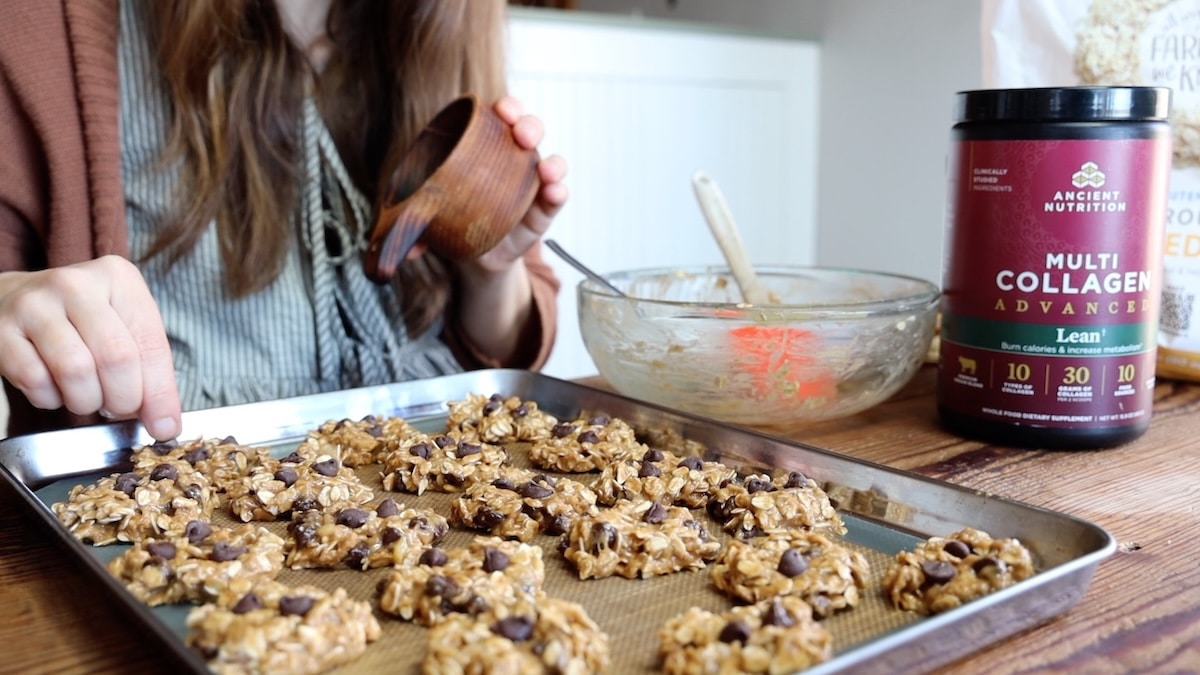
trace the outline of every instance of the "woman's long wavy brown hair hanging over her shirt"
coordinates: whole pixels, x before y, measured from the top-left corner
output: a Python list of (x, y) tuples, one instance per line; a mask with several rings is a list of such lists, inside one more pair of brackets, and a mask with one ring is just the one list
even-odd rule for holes
[[(505, 89), (503, 0), (335, 0), (330, 59), (319, 74), (284, 34), (275, 0), (145, 6), (173, 103), (164, 160), (181, 167), (179, 214), (149, 255), (176, 262), (216, 219), (235, 298), (282, 269), (300, 189), (306, 86), (350, 178), (373, 202), (389, 167), (445, 103), (467, 91), (494, 101)], [(449, 292), (445, 264), (422, 256), (402, 267), (398, 282), (409, 327), (427, 325)]]

